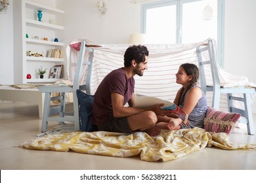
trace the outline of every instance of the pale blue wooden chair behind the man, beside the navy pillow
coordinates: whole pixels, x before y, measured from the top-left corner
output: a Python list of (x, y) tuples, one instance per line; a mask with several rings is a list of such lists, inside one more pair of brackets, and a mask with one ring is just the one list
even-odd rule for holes
[[(88, 73), (86, 84), (79, 86), (79, 78), (81, 73), (81, 68), (84, 62), (85, 51), (89, 51), (89, 58), (85, 61), (88, 64)], [(85, 90), (87, 94), (90, 94), (90, 77), (91, 69), (93, 63), (93, 49), (88, 48), (85, 44), (85, 40), (81, 41), (80, 51), (77, 58), (76, 72), (74, 76), (73, 86), (39, 86), (38, 89), (41, 93), (45, 93), (45, 103), (43, 107), (43, 118), (41, 131), (47, 131), (47, 125), (49, 122), (74, 122), (75, 130), (79, 131), (81, 125), (79, 123), (79, 108), (76, 90)], [(66, 111), (66, 93), (73, 93), (73, 111)], [(51, 93), (60, 93), (58, 97), (51, 97)], [(59, 100), (59, 105), (51, 106), (51, 101)], [(53, 116), (58, 114), (58, 116)]]

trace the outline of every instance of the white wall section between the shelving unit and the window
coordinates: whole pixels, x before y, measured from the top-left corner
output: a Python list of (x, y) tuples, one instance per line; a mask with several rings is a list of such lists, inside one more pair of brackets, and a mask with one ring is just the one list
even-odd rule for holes
[(105, 0), (102, 16), (98, 0), (64, 0), (65, 40), (86, 37), (98, 44), (125, 44), (131, 33), (140, 33), (140, 5), (131, 0)]

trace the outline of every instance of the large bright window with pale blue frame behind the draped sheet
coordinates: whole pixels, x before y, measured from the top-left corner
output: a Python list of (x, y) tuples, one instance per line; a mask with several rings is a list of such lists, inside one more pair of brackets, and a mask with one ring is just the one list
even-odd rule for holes
[(144, 4), (142, 33), (152, 44), (192, 43), (213, 38), (222, 65), (223, 4), (223, 0), (165, 0)]

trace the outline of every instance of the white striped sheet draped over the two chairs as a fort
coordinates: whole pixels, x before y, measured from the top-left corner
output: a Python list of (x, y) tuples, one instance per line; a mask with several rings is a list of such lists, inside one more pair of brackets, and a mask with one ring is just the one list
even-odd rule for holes
[[(75, 66), (77, 63), (77, 52), (79, 42), (83, 39), (77, 39), (70, 42), (67, 47), (68, 70), (67, 79), (74, 80)], [(143, 76), (135, 75), (135, 93), (158, 97), (163, 100), (173, 101), (181, 85), (176, 83), (176, 76), (179, 66), (182, 63), (194, 63), (198, 65), (196, 47), (207, 44), (209, 39), (194, 44), (144, 44), (149, 50), (148, 70)], [(129, 44), (96, 44), (89, 39), (85, 39), (87, 45), (96, 45), (94, 47), (93, 69), (91, 73), (91, 93), (95, 93), (98, 85), (110, 71), (123, 67), (123, 55)], [(73, 47), (72, 47), (73, 45)], [(76, 45), (76, 46), (74, 46)], [(215, 49), (216, 50), (216, 49)], [(89, 56), (85, 53), (85, 58)], [(207, 58), (207, 54), (203, 54)], [(85, 84), (87, 76), (87, 65), (83, 65), (83, 72), (79, 84)], [(218, 66), (219, 67), (219, 66)], [(234, 76), (223, 71), (219, 67), (219, 75), (222, 86), (253, 86), (248, 82), (245, 76)], [(211, 69), (205, 68), (207, 84), (212, 84)], [(200, 81), (199, 81), (200, 84)], [(207, 94), (209, 105), (212, 93)], [(252, 96), (255, 101), (255, 96)], [(220, 108), (226, 110), (226, 95), (221, 96)]]

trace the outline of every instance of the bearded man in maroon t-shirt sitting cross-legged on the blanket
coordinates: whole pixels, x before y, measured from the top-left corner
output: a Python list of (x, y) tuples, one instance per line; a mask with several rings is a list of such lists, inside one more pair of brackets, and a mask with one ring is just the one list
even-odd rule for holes
[[(135, 108), (135, 79), (147, 69), (148, 49), (146, 46), (130, 46), (124, 54), (124, 67), (105, 76), (95, 92), (93, 124), (100, 131), (132, 133), (145, 131), (150, 136), (160, 134), (156, 127), (158, 115), (164, 116), (163, 105), (150, 108)], [(124, 105), (128, 103), (129, 107)]]

